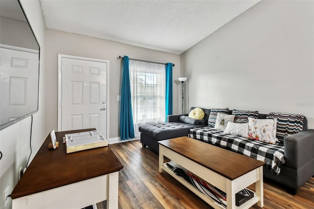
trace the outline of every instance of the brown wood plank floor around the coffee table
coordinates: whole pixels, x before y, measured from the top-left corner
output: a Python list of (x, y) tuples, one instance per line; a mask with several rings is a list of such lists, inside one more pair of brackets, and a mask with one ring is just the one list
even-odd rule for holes
[[(166, 172), (158, 172), (158, 156), (139, 140), (109, 145), (124, 168), (119, 172), (121, 209), (210, 209), (211, 207)], [(254, 190), (251, 185), (250, 189)], [(97, 204), (105, 209), (105, 202)], [(253, 209), (259, 209), (255, 204)], [(285, 187), (264, 180), (264, 209), (314, 209), (314, 178), (295, 196)]]

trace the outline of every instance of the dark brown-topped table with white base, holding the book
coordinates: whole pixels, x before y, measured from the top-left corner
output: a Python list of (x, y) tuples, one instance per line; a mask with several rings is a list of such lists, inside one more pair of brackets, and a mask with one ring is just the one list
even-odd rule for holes
[(56, 132), (55, 150), (49, 134), (12, 191), (12, 208), (79, 209), (106, 200), (107, 209), (117, 209), (123, 165), (110, 147), (66, 154), (62, 143), (64, 134), (92, 130)]

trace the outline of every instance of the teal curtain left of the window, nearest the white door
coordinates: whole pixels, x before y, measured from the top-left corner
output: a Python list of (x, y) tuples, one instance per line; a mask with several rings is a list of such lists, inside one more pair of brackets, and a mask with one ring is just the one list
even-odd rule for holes
[(129, 57), (123, 58), (123, 76), (120, 108), (120, 137), (121, 140), (134, 138), (134, 125), (131, 103), (131, 84), (129, 72)]

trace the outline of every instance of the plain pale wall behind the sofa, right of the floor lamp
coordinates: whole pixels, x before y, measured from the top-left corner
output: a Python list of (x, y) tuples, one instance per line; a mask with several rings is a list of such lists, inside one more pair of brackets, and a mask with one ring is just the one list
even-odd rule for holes
[(181, 55), (188, 106), (302, 113), (314, 128), (314, 1), (266, 1)]

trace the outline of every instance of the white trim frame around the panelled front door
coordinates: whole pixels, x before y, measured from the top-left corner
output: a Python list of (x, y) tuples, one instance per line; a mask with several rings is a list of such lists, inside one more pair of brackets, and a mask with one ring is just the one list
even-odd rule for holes
[(104, 59), (94, 59), (94, 58), (88, 58), (88, 57), (81, 57), (81, 56), (72, 56), (72, 55), (66, 55), (66, 54), (60, 54), (58, 53), (58, 131), (61, 131), (61, 98), (62, 98), (62, 74), (61, 74), (61, 60), (62, 58), (72, 58), (72, 59), (81, 59), (81, 60), (87, 60), (87, 61), (95, 61), (95, 62), (105, 62), (107, 63), (107, 72), (106, 72), (106, 82), (107, 82), (107, 122), (106, 122), (106, 139), (109, 139), (109, 60)]

